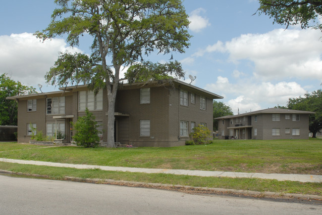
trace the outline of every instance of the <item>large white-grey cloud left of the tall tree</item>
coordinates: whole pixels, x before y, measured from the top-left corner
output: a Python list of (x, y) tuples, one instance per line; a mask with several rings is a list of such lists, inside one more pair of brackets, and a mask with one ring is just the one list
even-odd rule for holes
[(36, 87), (45, 84), (45, 74), (54, 66), (58, 52), (68, 50), (63, 39), (40, 42), (30, 33), (0, 36), (0, 73), (7, 73), (11, 79)]

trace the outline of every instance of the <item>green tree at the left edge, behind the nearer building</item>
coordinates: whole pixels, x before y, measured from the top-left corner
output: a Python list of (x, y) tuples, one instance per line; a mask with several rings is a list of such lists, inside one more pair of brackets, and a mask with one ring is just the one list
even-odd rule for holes
[(0, 125), (16, 126), (18, 104), (16, 101), (7, 100), (6, 97), (37, 93), (31, 86), (24, 86), (19, 81), (11, 80), (7, 74), (0, 75)]

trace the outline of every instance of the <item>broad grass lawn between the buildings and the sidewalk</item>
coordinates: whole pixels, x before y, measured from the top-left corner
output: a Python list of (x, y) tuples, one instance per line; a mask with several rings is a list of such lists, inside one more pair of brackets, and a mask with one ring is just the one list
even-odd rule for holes
[[(214, 140), (171, 148), (40, 147), (0, 143), (0, 157), (71, 164), (230, 172), (322, 174), (322, 139)], [(27, 150), (28, 149), (28, 150)]]

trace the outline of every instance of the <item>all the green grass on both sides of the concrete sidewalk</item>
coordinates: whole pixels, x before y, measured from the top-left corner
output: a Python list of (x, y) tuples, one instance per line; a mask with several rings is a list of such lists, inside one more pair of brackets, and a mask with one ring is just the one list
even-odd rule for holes
[[(74, 146), (48, 147), (5, 142), (0, 143), (0, 158), (101, 166), (321, 175), (322, 139), (214, 140), (214, 143), (210, 145), (112, 149)], [(0, 170), (41, 174), (54, 179), (74, 176), (262, 192), (322, 194), (322, 183), (257, 178), (77, 170), (4, 162), (0, 162)]]

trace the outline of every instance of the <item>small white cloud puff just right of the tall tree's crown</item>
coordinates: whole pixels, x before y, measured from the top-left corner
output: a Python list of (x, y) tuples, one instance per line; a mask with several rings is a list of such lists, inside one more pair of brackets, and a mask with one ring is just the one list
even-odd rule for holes
[(210, 26), (209, 19), (200, 15), (200, 13), (205, 13), (204, 8), (198, 8), (191, 12), (189, 16), (189, 29), (194, 32), (200, 32), (202, 29)]

